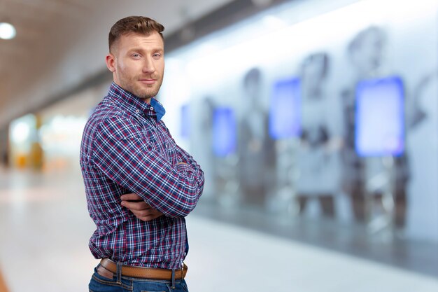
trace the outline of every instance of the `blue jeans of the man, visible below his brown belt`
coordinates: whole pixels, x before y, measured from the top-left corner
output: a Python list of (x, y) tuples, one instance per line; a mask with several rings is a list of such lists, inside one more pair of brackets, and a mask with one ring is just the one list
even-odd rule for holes
[[(99, 265), (97, 266), (99, 267)], [(151, 280), (124, 277), (113, 279), (97, 274), (97, 267), (94, 269), (88, 288), (90, 292), (188, 292), (187, 284), (184, 279), (175, 280), (175, 288), (172, 287), (171, 281)]]

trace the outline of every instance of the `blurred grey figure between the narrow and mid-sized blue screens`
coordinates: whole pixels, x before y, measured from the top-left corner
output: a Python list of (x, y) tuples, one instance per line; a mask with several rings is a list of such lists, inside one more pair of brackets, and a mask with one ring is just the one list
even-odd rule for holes
[(261, 72), (250, 69), (243, 78), (245, 111), (239, 125), (239, 177), (243, 202), (266, 203), (274, 174), (274, 141), (269, 136), (268, 113), (261, 102)]

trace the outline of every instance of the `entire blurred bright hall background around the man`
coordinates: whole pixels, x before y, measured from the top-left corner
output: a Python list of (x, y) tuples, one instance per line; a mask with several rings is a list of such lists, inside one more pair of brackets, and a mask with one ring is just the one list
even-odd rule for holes
[(206, 176), (190, 291), (438, 291), (438, 1), (0, 0), (1, 292), (87, 291), (80, 140), (128, 15)]

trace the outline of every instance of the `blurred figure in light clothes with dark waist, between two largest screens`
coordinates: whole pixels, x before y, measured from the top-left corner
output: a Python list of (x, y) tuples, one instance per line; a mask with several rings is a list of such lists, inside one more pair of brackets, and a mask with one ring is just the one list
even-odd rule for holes
[[(302, 134), (297, 149), (297, 199), (304, 214), (311, 198), (320, 202), (322, 214), (334, 217), (334, 195), (337, 193), (337, 141), (332, 120), (333, 105), (325, 92), (329, 56), (314, 53), (304, 59), (301, 68)], [(339, 178), (338, 178), (339, 179)], [(317, 182), (317, 183), (316, 183)]]

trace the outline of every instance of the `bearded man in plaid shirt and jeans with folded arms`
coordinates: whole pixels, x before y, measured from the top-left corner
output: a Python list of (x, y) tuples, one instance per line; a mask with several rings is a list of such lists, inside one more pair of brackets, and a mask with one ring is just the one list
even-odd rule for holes
[(176, 145), (154, 98), (163, 80), (160, 23), (128, 17), (109, 33), (108, 95), (85, 125), (80, 165), (101, 263), (90, 291), (188, 291), (185, 216), (204, 186), (197, 162)]

